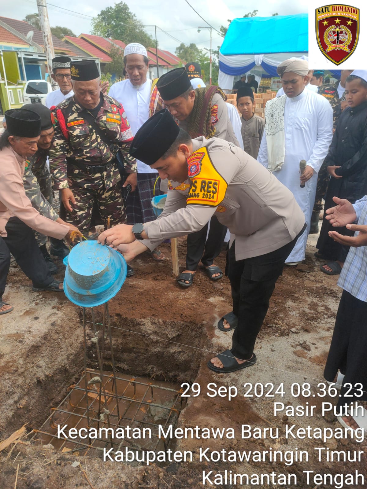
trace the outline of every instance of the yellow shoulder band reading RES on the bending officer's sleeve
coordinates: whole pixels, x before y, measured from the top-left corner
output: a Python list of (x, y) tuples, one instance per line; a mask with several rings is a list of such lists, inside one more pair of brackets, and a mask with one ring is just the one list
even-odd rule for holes
[(190, 158), (192, 157), (194, 159), (191, 164), (198, 165), (199, 161), (200, 169), (198, 166), (196, 170), (192, 168), (194, 175), (189, 175), (192, 185), (187, 195), (186, 203), (216, 207), (224, 199), (228, 184), (215, 169), (206, 148), (200, 148), (195, 151), (190, 156)]

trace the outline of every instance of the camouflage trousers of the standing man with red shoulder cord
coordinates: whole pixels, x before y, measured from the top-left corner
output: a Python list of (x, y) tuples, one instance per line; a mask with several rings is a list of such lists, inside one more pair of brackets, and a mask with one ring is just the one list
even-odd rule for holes
[(66, 221), (74, 224), (85, 238), (88, 238), (88, 230), (91, 227), (94, 204), (97, 205), (105, 226), (107, 226), (108, 218), (110, 218), (111, 226), (126, 221), (125, 204), (119, 183), (106, 189), (103, 178), (94, 179), (93, 176), (89, 176), (87, 181), (83, 181), (69, 176), (69, 188), (76, 203), (71, 204), (73, 209), (71, 213), (66, 211)]

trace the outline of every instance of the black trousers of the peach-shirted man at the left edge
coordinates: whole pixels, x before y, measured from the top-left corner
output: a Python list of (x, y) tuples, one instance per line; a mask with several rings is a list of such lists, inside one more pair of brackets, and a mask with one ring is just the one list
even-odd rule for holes
[(10, 253), (34, 287), (53, 282), (45, 258), (38, 247), (33, 231), (17, 217), (11, 217), (5, 226), (6, 237), (0, 237), (0, 299), (5, 290), (10, 266)]

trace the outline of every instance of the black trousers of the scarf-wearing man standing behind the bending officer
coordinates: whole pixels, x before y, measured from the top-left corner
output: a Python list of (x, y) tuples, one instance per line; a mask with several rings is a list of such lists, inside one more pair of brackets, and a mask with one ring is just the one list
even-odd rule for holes
[(210, 267), (222, 251), (227, 227), (213, 216), (210, 220), (209, 235), (206, 239), (207, 226), (206, 224), (200, 231), (187, 236), (186, 270), (195, 271), (200, 260), (205, 267)]

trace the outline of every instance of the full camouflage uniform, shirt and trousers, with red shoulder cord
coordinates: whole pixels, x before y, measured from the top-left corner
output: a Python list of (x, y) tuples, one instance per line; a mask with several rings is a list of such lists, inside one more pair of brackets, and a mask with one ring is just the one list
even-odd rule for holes
[(129, 155), (133, 133), (122, 105), (103, 95), (103, 104), (95, 118), (101, 132), (111, 141), (109, 146), (85, 120), (84, 114), (90, 112), (78, 105), (74, 97), (64, 100), (52, 113), (55, 135), (49, 158), (53, 188), (70, 188), (76, 200), (71, 204), (71, 214), (67, 211), (67, 221), (87, 237), (96, 202), (105, 224), (108, 218), (112, 225), (124, 222), (126, 214), (118, 185), (121, 177), (116, 166), (117, 151), (123, 156), (126, 173), (136, 173), (137, 162)]

